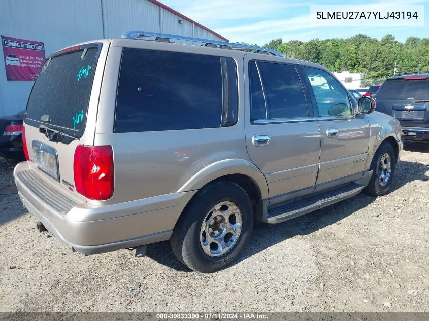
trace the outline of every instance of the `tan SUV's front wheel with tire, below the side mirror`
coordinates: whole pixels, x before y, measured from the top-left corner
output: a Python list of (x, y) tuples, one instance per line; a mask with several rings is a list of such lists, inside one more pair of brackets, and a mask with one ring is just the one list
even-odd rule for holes
[(364, 193), (377, 197), (389, 193), (396, 166), (396, 154), (393, 146), (384, 141), (378, 148), (371, 162), (373, 171), (370, 183), (365, 187)]

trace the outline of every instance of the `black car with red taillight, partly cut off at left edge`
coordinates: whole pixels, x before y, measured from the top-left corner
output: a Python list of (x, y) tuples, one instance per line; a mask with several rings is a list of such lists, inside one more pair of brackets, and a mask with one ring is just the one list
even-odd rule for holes
[(25, 160), (22, 149), (22, 123), (25, 111), (0, 116), (0, 157)]

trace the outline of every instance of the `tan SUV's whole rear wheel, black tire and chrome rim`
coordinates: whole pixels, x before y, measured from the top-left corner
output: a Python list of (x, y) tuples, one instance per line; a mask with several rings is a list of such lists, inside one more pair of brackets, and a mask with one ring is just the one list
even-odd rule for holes
[(200, 190), (180, 216), (170, 243), (190, 269), (211, 273), (232, 264), (252, 231), (253, 210), (247, 193), (228, 181)]

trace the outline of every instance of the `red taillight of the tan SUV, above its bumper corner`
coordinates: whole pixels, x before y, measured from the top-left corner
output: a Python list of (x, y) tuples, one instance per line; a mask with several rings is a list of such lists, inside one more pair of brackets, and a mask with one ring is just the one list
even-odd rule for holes
[(79, 145), (75, 150), (73, 172), (76, 191), (93, 200), (113, 195), (112, 146)]

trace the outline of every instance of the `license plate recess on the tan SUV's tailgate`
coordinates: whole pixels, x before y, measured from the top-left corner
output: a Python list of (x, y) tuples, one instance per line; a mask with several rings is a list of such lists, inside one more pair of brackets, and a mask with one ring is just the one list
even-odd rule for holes
[(34, 162), (37, 167), (59, 182), (58, 154), (56, 150), (43, 142), (33, 141)]

